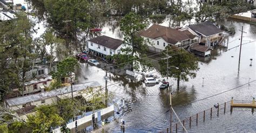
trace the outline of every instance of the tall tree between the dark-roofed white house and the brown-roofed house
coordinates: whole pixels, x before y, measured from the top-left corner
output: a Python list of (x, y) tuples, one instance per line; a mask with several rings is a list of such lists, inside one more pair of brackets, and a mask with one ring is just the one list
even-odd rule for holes
[[(149, 40), (144, 40), (142, 36), (139, 36), (139, 32), (145, 29), (146, 26), (146, 22), (134, 12), (126, 14), (121, 20), (120, 30), (124, 34), (124, 44), (127, 47), (122, 49), (124, 54), (114, 55), (118, 63), (131, 64), (132, 70), (140, 69), (142, 64), (139, 62), (143, 62), (144, 60), (139, 60), (139, 58), (146, 57), (147, 43), (149, 43)], [(143, 70), (149, 69), (150, 63), (143, 64), (143, 67), (145, 68)]]

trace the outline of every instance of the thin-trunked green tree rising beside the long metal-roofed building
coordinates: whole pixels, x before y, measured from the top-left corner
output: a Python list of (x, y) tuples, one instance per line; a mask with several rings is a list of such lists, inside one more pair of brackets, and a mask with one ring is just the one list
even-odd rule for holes
[(63, 61), (59, 62), (57, 64), (57, 71), (53, 73), (52, 77), (53, 79), (56, 79), (56, 82), (62, 82), (62, 78), (69, 78), (69, 82), (71, 85), (71, 93), (72, 93), (72, 99), (73, 99), (73, 80), (72, 80), (72, 73), (75, 71), (76, 68), (79, 67), (79, 64), (76, 60), (76, 58), (73, 57), (67, 57)]

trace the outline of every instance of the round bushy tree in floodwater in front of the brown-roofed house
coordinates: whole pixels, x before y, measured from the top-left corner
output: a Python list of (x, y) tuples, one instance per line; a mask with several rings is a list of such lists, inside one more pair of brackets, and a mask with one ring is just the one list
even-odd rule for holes
[[(195, 78), (197, 76), (196, 71), (199, 70), (198, 58), (184, 49), (177, 49), (177, 47), (174, 46), (167, 46), (166, 48), (168, 48), (169, 55), (176, 54), (169, 58), (169, 66), (178, 67), (179, 69), (170, 69), (168, 75), (169, 77), (177, 79), (177, 87), (179, 88), (180, 80), (187, 82), (189, 79), (188, 76), (191, 78)], [(166, 76), (166, 61), (159, 61), (159, 65), (161, 75)]]

